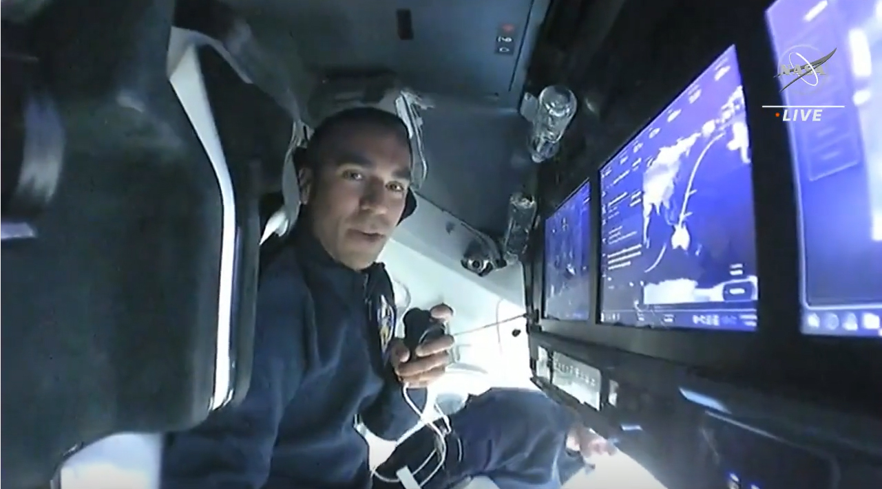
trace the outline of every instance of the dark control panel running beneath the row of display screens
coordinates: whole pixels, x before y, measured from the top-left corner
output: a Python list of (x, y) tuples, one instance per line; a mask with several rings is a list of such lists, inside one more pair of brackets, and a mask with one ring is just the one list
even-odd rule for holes
[(534, 349), (542, 358), (536, 384), (662, 485), (882, 487), (878, 419), (738, 389), (631, 353), (579, 349), (557, 341)]

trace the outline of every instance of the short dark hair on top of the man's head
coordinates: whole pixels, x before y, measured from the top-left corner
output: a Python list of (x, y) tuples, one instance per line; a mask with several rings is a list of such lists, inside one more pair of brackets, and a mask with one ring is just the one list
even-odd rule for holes
[(407, 130), (407, 124), (398, 115), (377, 107), (353, 107), (341, 110), (318, 124), (306, 145), (303, 158), (298, 163), (315, 169), (319, 162), (318, 155), (322, 152), (325, 144), (333, 141), (334, 137), (339, 137), (344, 130), (354, 127), (387, 130), (398, 137), (401, 144), (407, 146), (407, 152), (413, 156), (410, 147), (410, 131)]

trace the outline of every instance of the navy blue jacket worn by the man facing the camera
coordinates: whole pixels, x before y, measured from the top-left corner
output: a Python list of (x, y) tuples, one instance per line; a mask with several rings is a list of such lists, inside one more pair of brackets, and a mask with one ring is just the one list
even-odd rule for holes
[[(248, 395), (169, 436), (162, 489), (368, 489), (356, 417), (387, 440), (418, 421), (385, 356), (395, 300), (383, 265), (348, 269), (304, 229), (291, 240), (260, 279)], [(425, 405), (425, 389), (408, 394)]]

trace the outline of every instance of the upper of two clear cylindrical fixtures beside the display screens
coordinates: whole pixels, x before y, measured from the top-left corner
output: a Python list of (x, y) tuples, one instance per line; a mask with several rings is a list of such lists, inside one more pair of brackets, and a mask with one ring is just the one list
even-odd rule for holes
[(557, 154), (560, 138), (576, 115), (577, 106), (576, 95), (564, 85), (547, 86), (539, 93), (529, 143), (530, 158), (535, 163)]

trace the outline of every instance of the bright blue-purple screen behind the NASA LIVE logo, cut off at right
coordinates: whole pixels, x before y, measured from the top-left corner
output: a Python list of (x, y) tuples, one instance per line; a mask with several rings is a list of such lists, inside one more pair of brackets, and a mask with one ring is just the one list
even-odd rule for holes
[[(787, 123), (796, 176), (802, 330), (882, 337), (882, 7), (875, 0), (778, 0), (766, 15), (786, 107), (818, 111)], [(770, 108), (770, 111), (776, 109)]]

